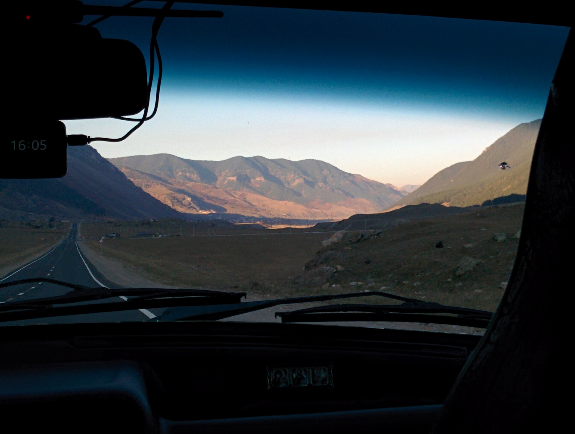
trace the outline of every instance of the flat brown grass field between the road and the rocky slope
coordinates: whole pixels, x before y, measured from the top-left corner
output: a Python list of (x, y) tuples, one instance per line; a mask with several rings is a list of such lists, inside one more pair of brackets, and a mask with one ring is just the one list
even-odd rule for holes
[[(98, 254), (155, 281), (181, 287), (259, 291), (289, 289), (290, 279), (301, 274), (303, 264), (326, 237), (325, 233), (301, 233), (304, 229), (251, 229), (225, 223), (83, 223), (82, 236)], [(121, 238), (99, 243), (102, 236), (112, 232), (120, 233)], [(166, 236), (133, 238), (143, 232)]]

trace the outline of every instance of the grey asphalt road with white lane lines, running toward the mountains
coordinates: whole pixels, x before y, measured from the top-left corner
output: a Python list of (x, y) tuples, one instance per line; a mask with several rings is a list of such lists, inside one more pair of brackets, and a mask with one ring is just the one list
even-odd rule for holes
[[(15, 272), (0, 278), (0, 283), (45, 277), (58, 281), (75, 283), (88, 287), (118, 288), (117, 285), (108, 281), (93, 264), (89, 262), (76, 245), (77, 225), (73, 224), (68, 237), (50, 252), (41, 258), (26, 264)], [(54, 285), (52, 283), (28, 283), (0, 289), (0, 303), (9, 301), (21, 301), (33, 298), (54, 297), (63, 295), (70, 288)], [(124, 302), (120, 297), (114, 297), (111, 302)], [(156, 309), (154, 309), (156, 310)], [(162, 309), (163, 310), (163, 309)], [(156, 312), (159, 313), (159, 312)], [(48, 317), (33, 320), (9, 321), (1, 325), (24, 325), (24, 324), (62, 324), (75, 322), (117, 322), (117, 321), (146, 321), (154, 318), (155, 314), (147, 309), (127, 310), (119, 312), (91, 313), (83, 315), (71, 315), (66, 317)]]

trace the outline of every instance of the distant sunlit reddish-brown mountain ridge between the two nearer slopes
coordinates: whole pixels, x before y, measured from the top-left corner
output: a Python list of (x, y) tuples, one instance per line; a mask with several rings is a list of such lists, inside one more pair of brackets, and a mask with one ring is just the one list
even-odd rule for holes
[(406, 194), (320, 160), (189, 160), (161, 153), (109, 159), (135, 185), (185, 213), (329, 219), (379, 212)]

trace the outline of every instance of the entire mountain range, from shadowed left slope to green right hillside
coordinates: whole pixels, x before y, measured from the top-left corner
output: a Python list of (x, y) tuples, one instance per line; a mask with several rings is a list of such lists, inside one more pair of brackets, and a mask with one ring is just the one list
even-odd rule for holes
[[(0, 218), (203, 220), (216, 213), (219, 218), (342, 220), (420, 203), (481, 205), (526, 193), (540, 122), (517, 125), (473, 161), (444, 168), (421, 186), (401, 188), (320, 160), (237, 156), (216, 162), (166, 153), (106, 160), (89, 145), (68, 147), (63, 178), (0, 180)], [(503, 161), (511, 168), (502, 171)]]

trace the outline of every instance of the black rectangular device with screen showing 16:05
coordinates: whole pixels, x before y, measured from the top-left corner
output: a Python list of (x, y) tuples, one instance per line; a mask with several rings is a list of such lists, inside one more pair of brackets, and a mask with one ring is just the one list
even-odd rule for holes
[(66, 175), (66, 126), (60, 121), (14, 122), (0, 142), (0, 178), (61, 178)]

